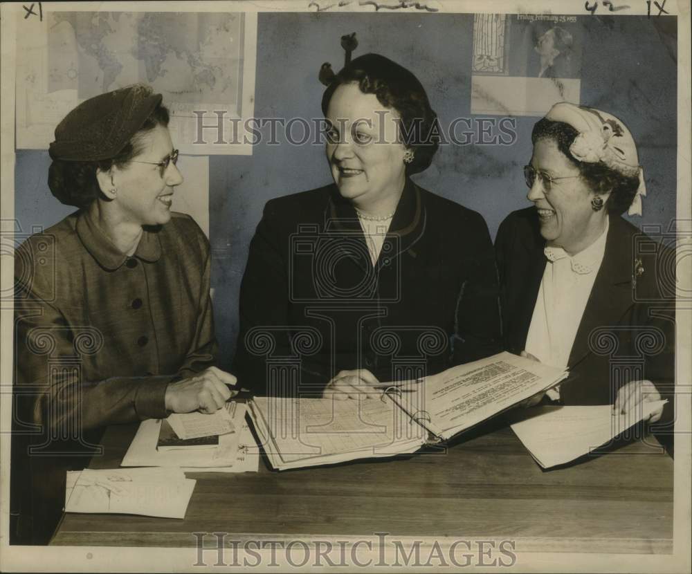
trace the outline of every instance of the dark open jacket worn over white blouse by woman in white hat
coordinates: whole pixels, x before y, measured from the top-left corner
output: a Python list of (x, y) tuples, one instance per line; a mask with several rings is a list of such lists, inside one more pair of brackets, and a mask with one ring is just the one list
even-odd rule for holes
[[(525, 348), (544, 247), (534, 207), (511, 213), (495, 239), (504, 346), (512, 353)], [(610, 217), (603, 263), (570, 353), (570, 377), (561, 385), (563, 404), (612, 403), (619, 387), (637, 379), (651, 380), (673, 398), (674, 255), (621, 217)]]

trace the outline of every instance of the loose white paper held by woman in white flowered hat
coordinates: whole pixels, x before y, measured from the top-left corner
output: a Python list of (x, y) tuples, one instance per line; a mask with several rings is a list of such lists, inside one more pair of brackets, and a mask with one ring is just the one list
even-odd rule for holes
[(645, 402), (641, 409), (617, 415), (612, 414), (611, 405), (535, 407), (511, 428), (538, 464), (549, 468), (605, 445), (665, 403)]

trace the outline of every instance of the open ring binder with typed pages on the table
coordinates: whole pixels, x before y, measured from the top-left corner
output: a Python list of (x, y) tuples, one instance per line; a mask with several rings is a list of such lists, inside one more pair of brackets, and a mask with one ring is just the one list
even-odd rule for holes
[(379, 398), (255, 397), (250, 414), (277, 470), (410, 454), (545, 391), (567, 371), (498, 353), (386, 385)]

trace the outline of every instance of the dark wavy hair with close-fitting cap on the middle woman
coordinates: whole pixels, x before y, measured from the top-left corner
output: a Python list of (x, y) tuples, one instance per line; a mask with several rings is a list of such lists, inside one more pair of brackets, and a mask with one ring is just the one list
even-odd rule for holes
[(427, 169), (439, 147), (439, 126), (437, 114), (430, 107), (428, 95), (418, 78), (379, 54), (359, 56), (334, 77), (322, 95), (325, 115), (331, 97), (343, 84), (358, 84), (361, 92), (376, 95), (384, 107), (399, 113), (399, 135), (404, 145), (414, 152), (413, 161), (406, 165), (406, 175)]

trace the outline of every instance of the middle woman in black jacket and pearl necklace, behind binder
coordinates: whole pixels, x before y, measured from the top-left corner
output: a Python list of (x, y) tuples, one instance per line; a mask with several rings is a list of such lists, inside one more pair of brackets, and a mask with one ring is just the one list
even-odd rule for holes
[(354, 59), (322, 98), (334, 183), (268, 201), (240, 293), (235, 373), (257, 394), (372, 393), (498, 344), (482, 217), (416, 185), (439, 145), (417, 78)]

